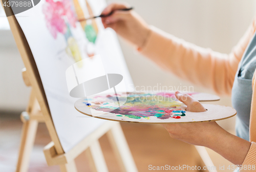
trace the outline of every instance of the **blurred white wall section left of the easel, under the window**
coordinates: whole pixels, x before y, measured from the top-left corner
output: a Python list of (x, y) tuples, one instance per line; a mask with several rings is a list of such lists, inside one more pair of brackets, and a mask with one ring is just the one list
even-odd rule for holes
[(30, 89), (22, 79), (24, 68), (10, 30), (0, 30), (0, 112), (24, 111)]

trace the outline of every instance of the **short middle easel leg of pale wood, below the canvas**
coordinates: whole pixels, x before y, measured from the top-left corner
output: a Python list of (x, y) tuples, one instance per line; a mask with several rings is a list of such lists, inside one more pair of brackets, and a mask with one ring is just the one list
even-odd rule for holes
[(96, 140), (86, 151), (85, 151), (91, 170), (94, 172), (108, 172), (108, 167), (106, 166), (105, 159), (99, 144)]

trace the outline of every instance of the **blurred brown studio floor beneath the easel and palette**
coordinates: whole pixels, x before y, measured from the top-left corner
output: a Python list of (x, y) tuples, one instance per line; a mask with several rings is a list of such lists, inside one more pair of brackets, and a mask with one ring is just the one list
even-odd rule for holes
[[(140, 172), (153, 171), (148, 166), (179, 166), (199, 165), (201, 160), (193, 145), (181, 142), (169, 137), (168, 133), (161, 125), (121, 123), (124, 135), (129, 143), (131, 152)], [(0, 171), (15, 171), (22, 122), (19, 118), (0, 118)], [(35, 146), (31, 154), (29, 166), (30, 172), (57, 172), (58, 166), (47, 166), (42, 149), (51, 141), (44, 123), (38, 126)], [(110, 172), (119, 172), (119, 166), (112, 152), (108, 138), (100, 138), (100, 145), (109, 167)], [(212, 161), (217, 169), (219, 166), (231, 165), (230, 162), (222, 158), (217, 153), (207, 149)], [(85, 154), (81, 154), (76, 159), (78, 171), (90, 171), (88, 160)], [(157, 170), (160, 171), (160, 170)], [(187, 171), (187, 170), (183, 170)], [(189, 170), (193, 171), (193, 170)], [(221, 170), (232, 171), (232, 170)]]

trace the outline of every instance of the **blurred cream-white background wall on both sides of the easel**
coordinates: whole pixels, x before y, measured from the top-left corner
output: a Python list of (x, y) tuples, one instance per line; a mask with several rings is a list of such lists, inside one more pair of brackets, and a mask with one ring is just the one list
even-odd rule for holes
[[(256, 2), (253, 0), (125, 0), (123, 2), (133, 6), (148, 24), (196, 45), (222, 53), (229, 53), (237, 44), (249, 26), (256, 8)], [(0, 111), (21, 111), (26, 108), (29, 89), (25, 87), (20, 73), (23, 62), (13, 37), (8, 34), (0, 31)], [(11, 45), (3, 45), (3, 38), (11, 42)], [(120, 43), (135, 85), (152, 87), (157, 84), (173, 87), (191, 85), (162, 71), (122, 39)], [(195, 91), (211, 93), (210, 90), (200, 87), (195, 87)], [(230, 97), (222, 97), (221, 101), (216, 103), (231, 105)], [(233, 121), (234, 118), (221, 123), (224, 123), (226, 128), (232, 128)]]

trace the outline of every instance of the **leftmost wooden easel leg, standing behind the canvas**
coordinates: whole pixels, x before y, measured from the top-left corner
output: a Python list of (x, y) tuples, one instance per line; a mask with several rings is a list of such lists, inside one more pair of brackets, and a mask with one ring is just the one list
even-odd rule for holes
[(38, 121), (25, 121), (22, 129), (22, 142), (20, 143), (16, 172), (26, 172), (29, 167), (30, 154), (33, 149)]

